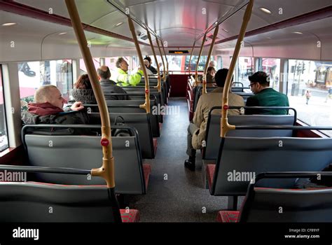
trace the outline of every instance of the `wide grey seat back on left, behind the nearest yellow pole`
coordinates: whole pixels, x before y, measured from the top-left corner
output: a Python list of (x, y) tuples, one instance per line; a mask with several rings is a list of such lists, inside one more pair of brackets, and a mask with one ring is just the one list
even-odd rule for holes
[[(101, 137), (25, 134), (29, 164), (39, 167), (93, 169), (102, 165)], [(116, 193), (145, 194), (144, 172), (137, 134), (112, 137)], [(105, 185), (99, 177), (36, 174), (37, 180), (66, 185)]]

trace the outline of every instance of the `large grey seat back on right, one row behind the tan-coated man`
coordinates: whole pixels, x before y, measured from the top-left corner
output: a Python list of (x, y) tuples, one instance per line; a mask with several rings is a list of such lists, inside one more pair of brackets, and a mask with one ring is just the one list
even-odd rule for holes
[[(331, 138), (226, 137), (221, 141), (211, 193), (245, 195), (254, 174), (319, 172), (331, 162)], [(264, 179), (257, 186), (291, 188), (294, 181)]]

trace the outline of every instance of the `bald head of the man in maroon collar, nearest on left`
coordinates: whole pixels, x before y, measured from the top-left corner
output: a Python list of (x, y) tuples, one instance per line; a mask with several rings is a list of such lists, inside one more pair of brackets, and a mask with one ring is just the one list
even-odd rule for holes
[(39, 87), (34, 93), (34, 101), (36, 103), (50, 103), (60, 109), (67, 103), (67, 100), (62, 97), (61, 92), (55, 85), (43, 85)]

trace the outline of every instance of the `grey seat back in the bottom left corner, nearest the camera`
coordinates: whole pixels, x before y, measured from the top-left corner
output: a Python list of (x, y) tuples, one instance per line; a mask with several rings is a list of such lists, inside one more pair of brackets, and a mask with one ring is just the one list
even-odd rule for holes
[[(1, 223), (114, 222), (106, 186), (0, 182)], [(49, 213), (50, 207), (53, 214)]]

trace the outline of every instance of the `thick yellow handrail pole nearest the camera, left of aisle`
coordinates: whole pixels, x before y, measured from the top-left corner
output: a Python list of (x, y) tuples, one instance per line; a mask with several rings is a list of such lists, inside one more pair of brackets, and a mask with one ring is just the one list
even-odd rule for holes
[(100, 112), (100, 118), (102, 120), (102, 167), (99, 167), (98, 169), (91, 169), (91, 175), (102, 177), (106, 181), (108, 188), (114, 188), (116, 185), (114, 181), (114, 159), (112, 155), (111, 123), (109, 120), (109, 110), (107, 109), (104, 93), (102, 92), (102, 87), (100, 86), (100, 83), (98, 81), (95, 65), (92, 62), (92, 56), (88, 48), (88, 42), (85, 38), (75, 1), (65, 1), (69, 16), (71, 18), (71, 25), (73, 25), (78, 45), (81, 49), (85, 66), (88, 70), (92, 90), (95, 94)]

